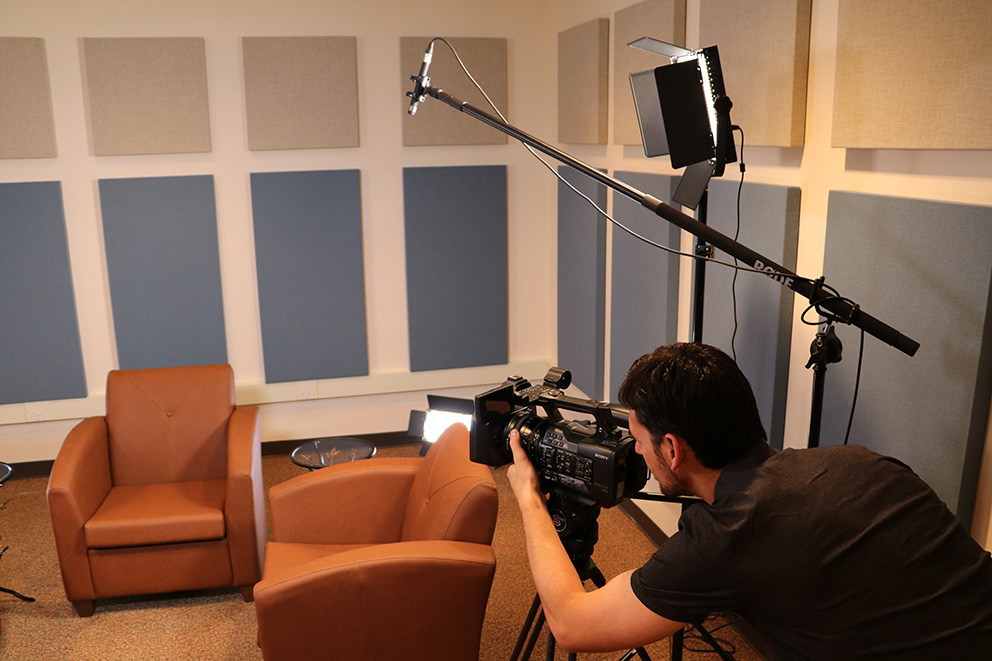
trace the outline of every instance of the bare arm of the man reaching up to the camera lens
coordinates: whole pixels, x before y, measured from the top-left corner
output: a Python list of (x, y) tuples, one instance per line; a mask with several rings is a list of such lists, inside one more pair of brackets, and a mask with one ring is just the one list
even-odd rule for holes
[(527, 557), (548, 626), (565, 650), (608, 652), (639, 647), (681, 629), (651, 611), (630, 587), (632, 571), (625, 572), (593, 592), (586, 592), (548, 514), (537, 472), (510, 432), (513, 465), (507, 471), (520, 506)]

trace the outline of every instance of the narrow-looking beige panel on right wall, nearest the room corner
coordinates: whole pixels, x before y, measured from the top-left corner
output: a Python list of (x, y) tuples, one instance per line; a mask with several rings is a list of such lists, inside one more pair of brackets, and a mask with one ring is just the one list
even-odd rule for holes
[(609, 60), (608, 19), (558, 33), (558, 142), (606, 144)]

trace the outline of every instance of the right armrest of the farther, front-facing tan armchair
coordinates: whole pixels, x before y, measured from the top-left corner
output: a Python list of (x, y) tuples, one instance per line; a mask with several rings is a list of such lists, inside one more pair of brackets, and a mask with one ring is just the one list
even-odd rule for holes
[(227, 424), (224, 519), (235, 585), (253, 585), (262, 575), (267, 534), (260, 420), (259, 407), (243, 406)]

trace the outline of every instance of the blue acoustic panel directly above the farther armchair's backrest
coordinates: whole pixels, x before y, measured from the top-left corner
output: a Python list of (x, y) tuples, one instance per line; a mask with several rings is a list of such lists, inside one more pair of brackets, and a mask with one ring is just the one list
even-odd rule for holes
[(227, 362), (212, 176), (101, 179), (121, 369)]

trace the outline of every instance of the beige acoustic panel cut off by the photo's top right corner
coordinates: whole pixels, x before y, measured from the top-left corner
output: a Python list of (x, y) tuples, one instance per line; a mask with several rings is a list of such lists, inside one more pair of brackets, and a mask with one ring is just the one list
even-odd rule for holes
[(992, 149), (992, 2), (841, 0), (831, 145)]

